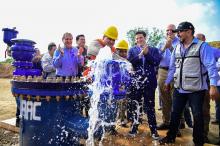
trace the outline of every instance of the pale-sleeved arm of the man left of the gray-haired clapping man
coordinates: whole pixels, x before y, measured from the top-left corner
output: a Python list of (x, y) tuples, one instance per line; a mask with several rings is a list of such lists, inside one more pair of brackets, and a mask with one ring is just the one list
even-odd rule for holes
[(43, 71), (45, 72), (54, 72), (56, 70), (53, 64), (51, 64), (49, 56), (47, 56), (46, 54), (42, 58), (41, 65), (42, 65)]

